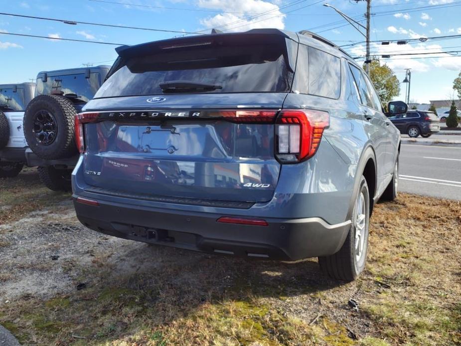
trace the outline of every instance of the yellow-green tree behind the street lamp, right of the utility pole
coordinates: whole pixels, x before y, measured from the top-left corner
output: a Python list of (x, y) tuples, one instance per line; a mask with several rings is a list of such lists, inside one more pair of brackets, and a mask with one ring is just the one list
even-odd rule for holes
[(379, 60), (370, 63), (370, 79), (384, 105), (400, 95), (400, 83), (394, 71)]

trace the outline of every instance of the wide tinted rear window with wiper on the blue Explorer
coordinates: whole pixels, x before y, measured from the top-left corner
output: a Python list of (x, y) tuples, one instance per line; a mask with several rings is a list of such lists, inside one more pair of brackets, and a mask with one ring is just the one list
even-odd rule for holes
[[(205, 42), (206, 43), (206, 42)], [(95, 98), (158, 95), (171, 92), (160, 84), (197, 83), (216, 86), (187, 92), (288, 92), (293, 80), (284, 38), (268, 44), (248, 39), (236, 44), (154, 47), (158, 53), (133, 54), (99, 89)], [(152, 51), (152, 50), (151, 50)], [(173, 84), (174, 84), (173, 83)], [(177, 89), (174, 92), (185, 92)]]

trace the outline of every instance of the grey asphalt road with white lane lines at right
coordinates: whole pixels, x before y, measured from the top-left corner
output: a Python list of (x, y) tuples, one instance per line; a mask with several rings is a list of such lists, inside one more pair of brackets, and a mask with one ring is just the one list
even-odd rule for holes
[(461, 148), (402, 144), (399, 190), (461, 200)]

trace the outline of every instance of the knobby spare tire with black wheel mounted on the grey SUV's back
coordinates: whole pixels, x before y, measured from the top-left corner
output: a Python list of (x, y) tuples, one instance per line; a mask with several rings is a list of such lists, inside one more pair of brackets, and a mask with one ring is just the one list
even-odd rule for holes
[(45, 160), (77, 154), (74, 104), (60, 95), (39, 95), (30, 101), (24, 114), (24, 137), (30, 149)]

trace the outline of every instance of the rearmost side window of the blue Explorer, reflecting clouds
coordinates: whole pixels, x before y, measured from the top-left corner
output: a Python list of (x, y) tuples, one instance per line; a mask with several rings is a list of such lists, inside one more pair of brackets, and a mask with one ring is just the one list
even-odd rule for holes
[(334, 55), (308, 47), (310, 95), (339, 98), (341, 92), (341, 62)]

